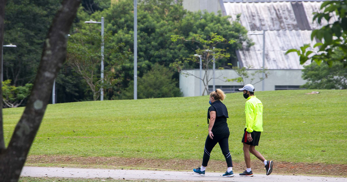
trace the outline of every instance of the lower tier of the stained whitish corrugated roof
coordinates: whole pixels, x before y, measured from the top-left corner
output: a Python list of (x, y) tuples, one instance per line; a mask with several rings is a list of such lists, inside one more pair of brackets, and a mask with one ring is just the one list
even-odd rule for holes
[[(252, 33), (261, 34), (263, 31)], [(285, 55), (289, 49), (299, 49), (311, 41), (312, 31), (265, 31), (265, 68), (266, 69), (303, 69), (296, 53)], [(242, 66), (251, 69), (263, 67), (263, 35), (249, 35), (256, 43), (249, 49), (239, 50), (238, 56)], [(307, 62), (305, 65), (310, 64)]]

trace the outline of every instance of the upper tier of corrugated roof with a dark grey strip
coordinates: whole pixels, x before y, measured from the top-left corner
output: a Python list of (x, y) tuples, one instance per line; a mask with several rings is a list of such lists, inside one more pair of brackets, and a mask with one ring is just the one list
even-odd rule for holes
[[(225, 2), (227, 15), (235, 21), (241, 14), (241, 24), (251, 31), (260, 30), (310, 30), (321, 28), (313, 22), (313, 12), (320, 12), (323, 2)], [(295, 8), (293, 8), (295, 7)], [(297, 16), (296, 16), (297, 15)], [(305, 16), (306, 15), (306, 16)], [(300, 19), (297, 19), (300, 18)], [(331, 23), (336, 21), (333, 17)], [(309, 25), (303, 25), (308, 22)], [(322, 21), (323, 25), (327, 21)]]

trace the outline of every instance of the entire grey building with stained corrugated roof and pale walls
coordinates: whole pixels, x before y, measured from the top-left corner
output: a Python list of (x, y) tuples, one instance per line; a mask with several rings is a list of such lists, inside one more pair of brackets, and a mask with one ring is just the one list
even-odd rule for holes
[[(322, 24), (312, 21), (313, 12), (322, 11), (320, 6), (323, 1), (325, 0), (184, 0), (183, 6), (191, 11), (200, 9), (217, 13), (221, 10), (223, 16), (230, 16), (231, 22), (235, 21), (240, 14), (239, 22), (248, 30), (249, 37), (255, 45), (247, 47), (244, 44), (242, 49), (236, 51), (238, 65), (250, 69), (250, 72), (265, 67), (270, 75), (265, 79), (264, 90), (279, 90), (298, 89), (305, 84), (301, 69), (310, 64), (310, 61), (301, 65), (296, 53), (287, 55), (285, 53), (289, 49), (299, 49), (304, 44), (316, 43), (315, 39), (311, 40), (312, 31), (328, 24), (324, 20)], [(329, 23), (336, 20), (337, 17), (333, 16)], [(265, 36), (262, 35), (263, 31)], [(263, 52), (264, 37), (266, 38)], [(199, 75), (198, 70), (188, 71), (194, 76)], [(184, 96), (200, 95), (199, 79), (194, 76), (180, 76), (180, 89)], [(235, 87), (242, 85), (225, 82), (224, 77), (238, 77), (233, 70), (217, 71), (216, 77), (219, 77), (215, 80), (216, 88), (221, 88), (227, 93), (236, 91)], [(212, 82), (213, 80), (209, 83), (210, 86)], [(250, 82), (245, 80), (245, 83)], [(253, 83), (255, 82), (257, 81), (254, 80)], [(260, 91), (263, 85), (260, 82), (254, 86), (257, 91)]]

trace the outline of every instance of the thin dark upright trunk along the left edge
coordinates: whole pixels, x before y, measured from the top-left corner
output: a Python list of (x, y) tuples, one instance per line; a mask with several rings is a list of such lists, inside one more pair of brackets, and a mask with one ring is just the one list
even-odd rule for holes
[[(0, 61), (2, 60), (3, 45), (3, 21), (5, 19), (6, 0), (0, 0)], [(0, 63), (0, 75), (2, 75), (2, 64)], [(1, 77), (1, 76), (0, 76)], [(0, 80), (0, 96), (2, 98), (2, 80)], [(2, 99), (0, 99), (0, 153), (5, 150), (5, 141), (3, 138), (3, 121), (2, 121)]]

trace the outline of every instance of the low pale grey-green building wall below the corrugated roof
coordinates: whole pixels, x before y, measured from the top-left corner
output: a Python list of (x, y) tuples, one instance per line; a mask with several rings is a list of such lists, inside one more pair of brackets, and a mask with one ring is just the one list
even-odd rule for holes
[[(194, 69), (194, 70), (186, 70), (189, 73), (194, 74), (195, 76), (199, 76), (199, 69)], [(254, 73), (257, 70), (248, 70), (249, 75), (251, 73)], [(301, 86), (306, 83), (304, 79), (302, 79), (302, 70), (268, 70), (267, 72), (270, 72), (268, 75), (268, 78), (265, 79), (265, 84), (264, 88), (265, 91), (268, 90), (275, 90), (275, 86)], [(256, 83), (259, 81), (260, 75), (256, 75), (252, 84), (255, 87), (255, 91), (261, 91), (262, 90), (262, 82)], [(212, 71), (210, 71), (210, 76), (212, 77)], [(215, 79), (215, 85), (216, 86), (242, 86), (240, 83), (236, 82), (226, 82), (226, 79), (229, 78), (237, 78), (239, 77), (234, 70), (216, 70), (215, 72), (215, 77), (219, 77), (219, 79)], [(246, 79), (245, 84), (251, 83), (252, 76), (251, 78)], [(256, 83), (256, 84), (254, 84)], [(209, 85), (213, 85), (212, 80), (209, 82)], [(204, 85), (202, 84), (202, 89)], [(194, 77), (194, 76), (184, 76), (180, 75), (179, 77), (179, 88), (183, 92), (183, 95), (185, 97), (190, 97), (190, 96), (199, 96), (200, 95), (200, 79)], [(216, 87), (218, 88), (218, 87)], [(206, 92), (205, 92), (206, 95)]]

